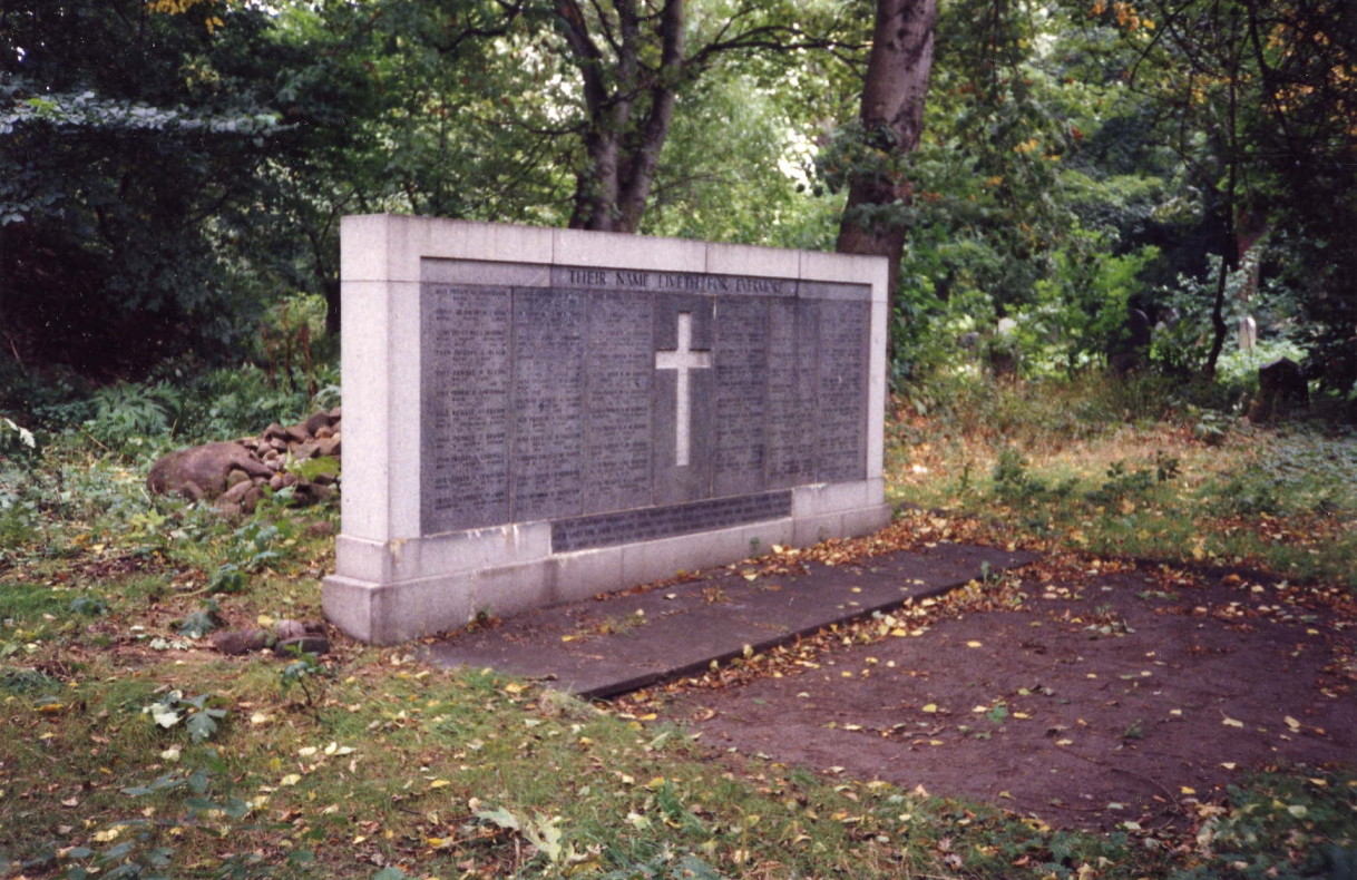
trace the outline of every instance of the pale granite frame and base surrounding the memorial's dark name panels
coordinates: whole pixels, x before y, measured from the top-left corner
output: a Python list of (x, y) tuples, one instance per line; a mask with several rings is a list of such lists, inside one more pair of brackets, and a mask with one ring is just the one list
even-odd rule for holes
[[(791, 489), (786, 518), (654, 541), (551, 552), (550, 522), (421, 534), (421, 260), (714, 273), (871, 286), (867, 479)], [(529, 607), (745, 559), (750, 546), (805, 546), (890, 521), (882, 480), (886, 260), (635, 235), (427, 217), (345, 217), (341, 231), (342, 529), (326, 616), (350, 636), (395, 643), (455, 629), (478, 613)]]

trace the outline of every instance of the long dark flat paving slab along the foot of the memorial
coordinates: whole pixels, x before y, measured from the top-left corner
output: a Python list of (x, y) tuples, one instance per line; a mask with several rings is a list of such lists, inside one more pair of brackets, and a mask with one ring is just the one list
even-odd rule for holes
[(750, 580), (745, 572), (759, 567), (752, 561), (683, 583), (536, 609), (432, 641), (427, 654), (441, 666), (491, 667), (555, 682), (579, 697), (613, 697), (691, 675), (746, 647), (764, 651), (1035, 559), (938, 544)]

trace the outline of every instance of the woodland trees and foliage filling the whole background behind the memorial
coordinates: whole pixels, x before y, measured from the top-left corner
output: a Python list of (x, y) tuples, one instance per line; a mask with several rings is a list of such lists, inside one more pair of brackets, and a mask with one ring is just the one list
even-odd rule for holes
[(15, 0), (0, 342), (118, 374), (296, 293), (335, 327), (338, 220), (391, 210), (889, 240), (900, 381), (968, 332), (1096, 367), (1132, 308), (1209, 374), (1257, 315), (1353, 405), (1354, 54), (1341, 0)]

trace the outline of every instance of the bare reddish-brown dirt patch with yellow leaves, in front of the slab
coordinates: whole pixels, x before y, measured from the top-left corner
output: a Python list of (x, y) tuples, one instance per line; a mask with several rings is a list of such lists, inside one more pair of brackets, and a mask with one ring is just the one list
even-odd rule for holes
[(657, 701), (711, 747), (1060, 827), (1182, 828), (1248, 772), (1353, 761), (1350, 597), (1122, 568), (1030, 569), (1015, 606)]

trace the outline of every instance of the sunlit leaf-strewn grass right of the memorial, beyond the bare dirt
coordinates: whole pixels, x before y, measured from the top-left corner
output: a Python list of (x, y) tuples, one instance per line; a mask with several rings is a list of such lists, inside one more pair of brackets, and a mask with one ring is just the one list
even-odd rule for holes
[[(900, 414), (887, 465), (896, 503), (987, 517), (1035, 548), (1357, 587), (1353, 435), (1259, 428), (1126, 389), (988, 395), (957, 404), (980, 412)], [(1118, 397), (1145, 408), (1109, 403)], [(1071, 416), (1082, 412), (1120, 416)]]

